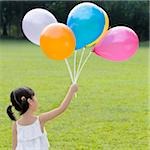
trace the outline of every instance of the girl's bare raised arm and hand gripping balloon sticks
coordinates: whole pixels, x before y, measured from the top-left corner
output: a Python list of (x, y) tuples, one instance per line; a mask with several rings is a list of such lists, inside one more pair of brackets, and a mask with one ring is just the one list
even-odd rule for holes
[(63, 100), (63, 102), (60, 104), (59, 107), (49, 112), (43, 113), (39, 116), (41, 124), (43, 125), (45, 122), (63, 113), (67, 109), (72, 97), (74, 96), (75, 92), (77, 92), (77, 90), (78, 90), (77, 84), (72, 84), (67, 92), (65, 99)]

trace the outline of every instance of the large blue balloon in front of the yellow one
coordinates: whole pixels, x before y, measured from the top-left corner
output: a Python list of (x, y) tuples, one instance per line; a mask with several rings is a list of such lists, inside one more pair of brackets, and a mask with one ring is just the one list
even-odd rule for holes
[(105, 26), (104, 11), (97, 5), (84, 2), (75, 6), (69, 13), (67, 25), (76, 37), (76, 50), (95, 41)]

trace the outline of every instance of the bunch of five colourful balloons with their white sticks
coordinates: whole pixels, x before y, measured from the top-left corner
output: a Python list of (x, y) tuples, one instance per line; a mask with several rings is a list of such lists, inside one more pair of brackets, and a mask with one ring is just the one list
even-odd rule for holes
[[(30, 10), (23, 18), (25, 36), (40, 45), (43, 53), (54, 60), (65, 60), (72, 83), (79, 79), (91, 54), (110, 61), (125, 61), (139, 46), (137, 34), (129, 27), (117, 26), (108, 30), (107, 13), (91, 2), (76, 5), (69, 13), (67, 25), (58, 23), (45, 9)], [(90, 49), (84, 58), (85, 49)], [(77, 53), (82, 51), (77, 66)], [(69, 58), (74, 52), (73, 71)]]

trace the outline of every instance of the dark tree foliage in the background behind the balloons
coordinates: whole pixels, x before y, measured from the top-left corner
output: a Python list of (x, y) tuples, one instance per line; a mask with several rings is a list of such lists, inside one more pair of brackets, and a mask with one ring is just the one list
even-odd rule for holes
[[(136, 31), (140, 40), (149, 39), (149, 1), (91, 2), (107, 12), (110, 27), (125, 25)], [(81, 1), (1, 1), (0, 37), (23, 38), (22, 19), (29, 10), (37, 7), (49, 10), (59, 22), (66, 23), (70, 10), (78, 3)]]

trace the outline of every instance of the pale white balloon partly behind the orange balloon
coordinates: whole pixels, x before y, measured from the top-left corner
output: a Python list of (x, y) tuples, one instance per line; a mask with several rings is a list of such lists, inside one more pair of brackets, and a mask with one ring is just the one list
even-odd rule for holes
[(22, 29), (28, 40), (40, 45), (40, 34), (51, 23), (57, 23), (54, 15), (45, 9), (36, 8), (26, 13), (22, 20)]

